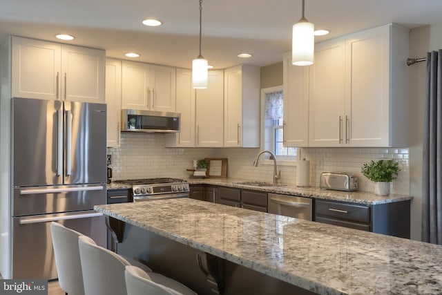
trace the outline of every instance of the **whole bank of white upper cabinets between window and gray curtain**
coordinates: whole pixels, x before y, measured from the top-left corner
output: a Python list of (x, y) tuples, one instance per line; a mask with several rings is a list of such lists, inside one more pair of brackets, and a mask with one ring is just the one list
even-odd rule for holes
[[(390, 24), (315, 47), (314, 64), (308, 69), (308, 146), (407, 146), (408, 30)], [(301, 136), (305, 128), (298, 129), (305, 122), (305, 106), (293, 98), (302, 93), (305, 97), (304, 74), (289, 73), (288, 60), (287, 55), (285, 144), (306, 146)], [(302, 113), (291, 115), (296, 108)], [(292, 122), (296, 117), (300, 121)]]

